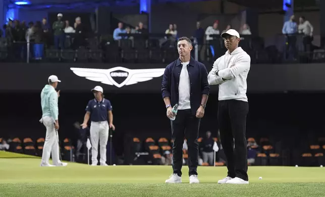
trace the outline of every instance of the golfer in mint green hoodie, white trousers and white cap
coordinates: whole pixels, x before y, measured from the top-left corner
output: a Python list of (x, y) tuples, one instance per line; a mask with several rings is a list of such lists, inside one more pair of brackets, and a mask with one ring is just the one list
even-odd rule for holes
[[(61, 82), (56, 75), (48, 77), (48, 84), (41, 92), (42, 118), (39, 122), (46, 128), (45, 142), (43, 146), (42, 160), (40, 166), (66, 166), (67, 163), (60, 161), (59, 142), (56, 130), (59, 130), (59, 108), (58, 98), (60, 90), (56, 88)], [(49, 156), (52, 154), (53, 165), (48, 163)]]

